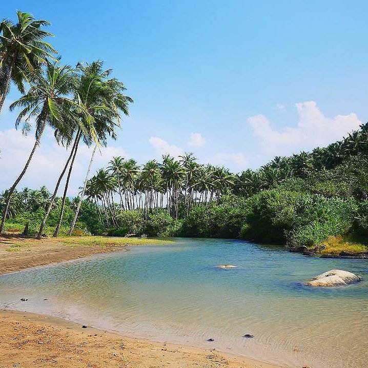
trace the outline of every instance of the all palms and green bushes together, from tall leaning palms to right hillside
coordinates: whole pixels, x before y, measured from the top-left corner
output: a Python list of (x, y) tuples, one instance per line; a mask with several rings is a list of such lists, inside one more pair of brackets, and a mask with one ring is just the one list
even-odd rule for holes
[[(10, 105), (14, 125), (25, 134), (34, 129), (35, 139), (24, 169), (1, 193), (1, 233), (239, 238), (310, 249), (325, 244), (329, 253), (366, 250), (368, 124), (327, 147), (239, 173), (203, 165), (190, 152), (146, 163), (114, 157), (97, 172), (86, 168), (79, 195), (68, 197), (78, 148), (94, 147), (92, 162), (123, 134), (118, 128), (134, 96), (103, 55), (64, 65), (63, 50), (47, 41), (49, 23), (22, 11), (16, 16), (0, 26), (0, 110), (9, 90), (18, 90), (21, 97)], [(54, 188), (42, 186), (42, 177), (40, 188), (24, 188), (46, 127), (69, 156)]]

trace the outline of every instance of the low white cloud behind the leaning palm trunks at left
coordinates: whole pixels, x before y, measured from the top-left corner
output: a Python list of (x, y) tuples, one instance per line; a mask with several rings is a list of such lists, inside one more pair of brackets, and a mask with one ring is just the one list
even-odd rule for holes
[[(37, 147), (28, 170), (19, 182), (17, 188), (24, 187), (38, 188), (45, 185), (50, 191), (55, 187), (56, 180), (62, 171), (69, 150), (58, 146), (55, 142), (47, 139), (49, 134), (45, 131), (45, 136), (41, 139), (39, 147)], [(9, 188), (15, 178), (22, 171), (29, 154), (34, 145), (34, 136), (22, 135), (20, 131), (9, 129), (0, 131), (0, 191)], [(78, 193), (78, 188), (83, 185), (89, 160), (91, 158), (93, 147), (88, 148), (80, 145), (73, 166), (73, 171), (69, 183), (68, 195), (73, 196)], [(96, 152), (91, 174), (97, 168), (106, 167), (107, 163), (113, 156), (127, 157), (126, 152), (119, 147), (101, 148), (101, 154)], [(60, 186), (59, 195), (63, 192), (63, 183)]]

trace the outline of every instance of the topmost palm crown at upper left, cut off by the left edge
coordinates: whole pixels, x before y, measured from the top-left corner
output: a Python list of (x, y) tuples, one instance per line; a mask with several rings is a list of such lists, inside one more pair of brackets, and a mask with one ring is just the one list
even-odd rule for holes
[(0, 24), (0, 112), (5, 97), (10, 89), (10, 82), (25, 93), (24, 81), (28, 74), (33, 74), (46, 58), (53, 59), (52, 54), (57, 51), (47, 42), (45, 37), (53, 36), (42, 27), (50, 23), (35, 21), (32, 15), (17, 11), (18, 23), (12, 24), (3, 19)]

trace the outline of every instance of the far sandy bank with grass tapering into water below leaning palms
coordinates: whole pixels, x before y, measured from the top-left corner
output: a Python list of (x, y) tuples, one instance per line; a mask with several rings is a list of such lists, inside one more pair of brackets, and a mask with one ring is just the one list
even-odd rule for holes
[(170, 240), (161, 239), (104, 236), (37, 240), (21, 235), (3, 235), (0, 236), (0, 275), (94, 254), (117, 252), (126, 246), (159, 245), (170, 242)]

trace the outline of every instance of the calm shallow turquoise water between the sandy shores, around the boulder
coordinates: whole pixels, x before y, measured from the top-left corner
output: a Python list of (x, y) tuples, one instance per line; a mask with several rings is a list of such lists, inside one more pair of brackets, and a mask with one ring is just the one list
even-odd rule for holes
[[(292, 367), (367, 366), (368, 261), (237, 240), (176, 240), (0, 276), (0, 307)], [(331, 269), (363, 282), (302, 284)]]

